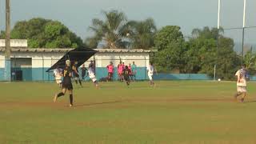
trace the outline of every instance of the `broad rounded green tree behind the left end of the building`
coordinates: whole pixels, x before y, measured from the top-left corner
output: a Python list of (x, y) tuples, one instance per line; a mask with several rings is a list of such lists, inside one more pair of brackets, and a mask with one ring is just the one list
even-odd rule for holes
[[(1, 33), (1, 38), (5, 33)], [(82, 39), (72, 33), (61, 22), (44, 18), (32, 18), (17, 22), (11, 31), (11, 38), (28, 39), (30, 48), (77, 48)]]

